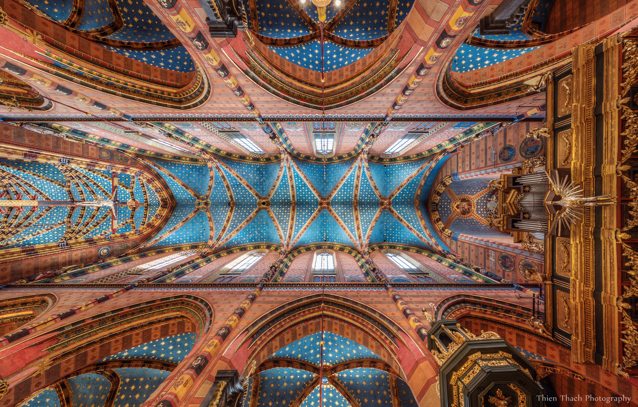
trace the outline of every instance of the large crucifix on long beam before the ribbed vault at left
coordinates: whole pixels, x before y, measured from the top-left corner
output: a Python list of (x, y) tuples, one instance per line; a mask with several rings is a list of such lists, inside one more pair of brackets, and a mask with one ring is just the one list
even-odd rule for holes
[[(135, 178), (133, 178), (133, 185), (135, 185)], [(7, 192), (0, 194), (0, 198), (10, 197)], [(134, 210), (136, 206), (141, 206), (135, 197), (131, 201), (118, 201), (117, 200), (117, 173), (112, 173), (111, 176), (111, 194), (108, 197), (96, 199), (94, 201), (39, 201), (37, 195), (30, 196), (30, 200), (22, 199), (24, 196), (20, 193), (15, 196), (15, 199), (2, 200), (0, 199), (0, 213), (6, 213), (4, 207), (15, 207), (17, 211), (24, 212), (22, 206), (92, 206), (93, 208), (102, 208), (107, 206), (111, 211), (111, 231), (117, 233), (117, 207), (129, 206), (131, 210)]]

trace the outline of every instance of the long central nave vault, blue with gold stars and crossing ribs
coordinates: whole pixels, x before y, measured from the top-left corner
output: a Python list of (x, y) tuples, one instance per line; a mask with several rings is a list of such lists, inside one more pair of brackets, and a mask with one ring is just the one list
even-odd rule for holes
[(392, 242), (448, 250), (426, 210), (445, 159), (380, 164), (366, 158), (320, 164), (286, 154), (278, 162), (256, 164), (212, 157), (212, 171), (203, 164), (155, 159), (152, 167), (176, 204), (163, 229), (142, 247), (205, 243), (223, 250), (270, 243), (288, 251), (334, 243), (363, 253), (370, 245)]

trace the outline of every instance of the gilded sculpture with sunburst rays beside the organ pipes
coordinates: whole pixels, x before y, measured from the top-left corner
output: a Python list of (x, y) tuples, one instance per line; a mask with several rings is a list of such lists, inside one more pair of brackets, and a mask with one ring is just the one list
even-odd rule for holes
[(563, 207), (562, 210), (556, 213), (556, 216), (549, 227), (549, 229), (552, 230), (556, 225), (558, 225), (559, 235), (563, 225), (568, 226), (569, 224), (575, 224), (577, 220), (581, 220), (583, 206), (616, 204), (616, 199), (609, 195), (592, 196), (587, 198), (583, 197), (580, 185), (575, 185), (574, 182), (568, 182), (567, 176), (565, 176), (563, 180), (560, 180), (558, 178), (558, 173), (549, 175), (549, 173), (545, 171), (545, 174), (547, 175), (547, 178), (549, 178), (549, 182), (551, 182), (556, 195), (560, 195), (562, 198), (560, 201), (546, 202), (548, 205), (560, 205)]

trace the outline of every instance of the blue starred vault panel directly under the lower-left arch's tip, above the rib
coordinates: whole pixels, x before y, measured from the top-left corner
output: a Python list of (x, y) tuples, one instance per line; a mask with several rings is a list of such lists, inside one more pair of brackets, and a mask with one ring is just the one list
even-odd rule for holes
[(191, 332), (167, 336), (133, 346), (122, 352), (105, 357), (100, 362), (126, 361), (126, 359), (144, 359), (178, 364), (191, 352), (197, 336)]

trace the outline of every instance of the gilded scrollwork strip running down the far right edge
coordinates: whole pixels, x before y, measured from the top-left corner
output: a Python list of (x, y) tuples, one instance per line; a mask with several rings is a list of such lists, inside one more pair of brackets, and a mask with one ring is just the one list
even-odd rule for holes
[[(628, 32), (621, 34), (621, 38), (627, 34)], [(616, 231), (616, 239), (622, 247), (623, 256), (627, 259), (627, 262), (625, 262), (625, 266), (627, 266), (625, 272), (628, 275), (630, 285), (624, 287), (623, 294), (618, 297), (617, 301), (623, 318), (623, 331), (621, 331), (623, 338), (620, 340), (624, 344), (623, 363), (618, 368), (618, 375), (629, 378), (625, 370), (638, 364), (638, 329), (636, 329), (632, 318), (627, 313), (630, 304), (628, 304), (626, 300), (629, 297), (638, 296), (638, 280), (636, 280), (635, 277), (638, 271), (638, 253), (623, 240), (630, 238), (626, 232), (638, 225), (638, 183), (635, 183), (632, 178), (628, 176), (628, 171), (631, 166), (627, 165), (628, 159), (638, 150), (638, 114), (628, 106), (631, 100), (631, 97), (628, 96), (629, 90), (638, 83), (638, 41), (624, 39), (623, 54), (625, 63), (621, 69), (623, 69), (623, 76), (625, 76), (627, 80), (621, 83), (622, 91), (619, 106), (623, 111), (622, 118), (625, 120), (625, 131), (621, 133), (625, 146), (623, 150), (621, 150), (621, 159), (618, 162), (618, 166), (616, 166), (616, 172), (623, 179), (625, 186), (629, 190), (631, 201), (628, 203), (628, 206), (631, 209), (629, 211), (630, 217), (626, 221), (625, 226)]]

